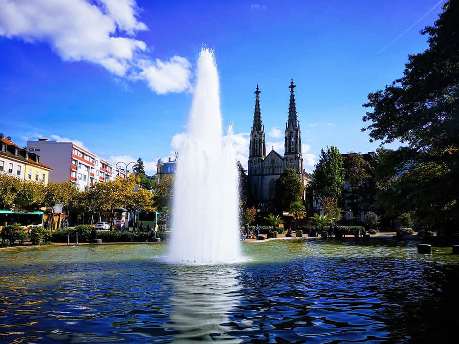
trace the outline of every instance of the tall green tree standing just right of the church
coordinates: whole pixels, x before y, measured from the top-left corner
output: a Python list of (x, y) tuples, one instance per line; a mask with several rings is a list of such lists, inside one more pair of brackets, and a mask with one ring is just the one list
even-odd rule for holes
[(338, 200), (344, 185), (343, 160), (338, 148), (331, 146), (322, 149), (319, 162), (313, 171), (313, 181), (310, 183), (316, 199), (331, 197)]

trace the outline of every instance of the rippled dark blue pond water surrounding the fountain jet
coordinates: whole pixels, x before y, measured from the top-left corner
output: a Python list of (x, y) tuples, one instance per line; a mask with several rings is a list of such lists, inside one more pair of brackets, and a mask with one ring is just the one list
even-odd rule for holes
[(0, 251), (0, 343), (444, 343), (459, 257), (415, 242), (244, 243), (246, 263), (166, 244)]

